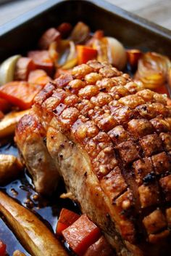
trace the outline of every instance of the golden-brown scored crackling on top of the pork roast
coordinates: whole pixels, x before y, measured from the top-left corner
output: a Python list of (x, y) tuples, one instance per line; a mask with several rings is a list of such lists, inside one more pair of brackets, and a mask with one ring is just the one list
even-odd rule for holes
[(123, 239), (134, 244), (141, 223), (151, 243), (169, 236), (171, 110), (164, 95), (92, 60), (47, 84), (34, 108), (46, 116), (44, 127), (55, 116), (86, 150)]

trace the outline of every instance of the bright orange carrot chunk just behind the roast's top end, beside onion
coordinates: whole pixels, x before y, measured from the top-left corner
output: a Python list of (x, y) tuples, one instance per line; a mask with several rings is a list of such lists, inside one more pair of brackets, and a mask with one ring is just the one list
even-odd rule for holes
[(97, 50), (83, 45), (77, 45), (78, 65), (87, 63), (88, 60), (96, 59)]

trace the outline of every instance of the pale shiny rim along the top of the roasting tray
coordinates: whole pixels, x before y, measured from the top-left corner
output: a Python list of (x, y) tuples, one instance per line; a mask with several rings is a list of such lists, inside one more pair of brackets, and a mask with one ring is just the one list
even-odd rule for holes
[(143, 17), (139, 17), (131, 12), (128, 12), (120, 7), (117, 7), (114, 4), (109, 3), (105, 0), (51, 0), (45, 1), (43, 4), (38, 5), (28, 12), (25, 12), (22, 15), (10, 20), (7, 23), (4, 23), (0, 26), (0, 39), (1, 36), (5, 36), (10, 31), (20, 27), (23, 23), (28, 23), (30, 20), (33, 20), (34, 17), (41, 15), (43, 12), (46, 12), (48, 9), (54, 8), (58, 4), (62, 4), (66, 1), (70, 2), (84, 2), (84, 3), (91, 3), (96, 5), (101, 9), (104, 9), (107, 12), (110, 12), (118, 17), (122, 17), (125, 20), (129, 20), (130, 22), (134, 23), (135, 25), (141, 26), (141, 28), (145, 28), (148, 31), (158, 34), (159, 36), (163, 36), (165, 39), (169, 39), (171, 42), (171, 31), (167, 28), (163, 28), (156, 23), (153, 23), (149, 20), (144, 19)]

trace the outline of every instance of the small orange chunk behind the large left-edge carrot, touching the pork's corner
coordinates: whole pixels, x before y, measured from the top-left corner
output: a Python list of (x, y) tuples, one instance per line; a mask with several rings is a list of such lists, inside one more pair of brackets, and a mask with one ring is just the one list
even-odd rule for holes
[(36, 69), (31, 71), (28, 76), (28, 82), (32, 84), (41, 84), (42, 86), (46, 85), (51, 81), (50, 76), (47, 75), (42, 69)]

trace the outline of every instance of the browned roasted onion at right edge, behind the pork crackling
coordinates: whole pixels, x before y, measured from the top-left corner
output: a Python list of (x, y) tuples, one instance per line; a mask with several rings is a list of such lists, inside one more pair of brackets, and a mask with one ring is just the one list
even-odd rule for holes
[(170, 66), (171, 63), (168, 57), (156, 52), (146, 52), (138, 60), (135, 81), (140, 80), (146, 88), (156, 89), (166, 83)]

